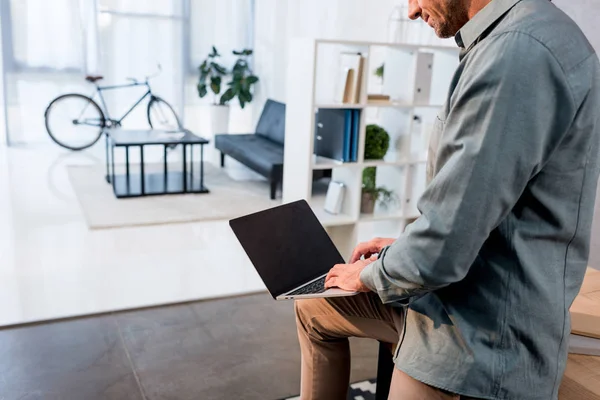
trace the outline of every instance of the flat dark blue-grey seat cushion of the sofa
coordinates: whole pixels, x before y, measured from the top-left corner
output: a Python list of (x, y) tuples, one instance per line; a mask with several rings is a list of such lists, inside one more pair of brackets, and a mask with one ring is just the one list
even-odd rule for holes
[(263, 176), (283, 170), (283, 146), (259, 135), (216, 135), (215, 147)]

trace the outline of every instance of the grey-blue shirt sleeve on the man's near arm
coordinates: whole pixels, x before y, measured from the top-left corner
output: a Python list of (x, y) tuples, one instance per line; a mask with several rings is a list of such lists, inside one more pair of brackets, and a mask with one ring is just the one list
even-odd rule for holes
[(459, 67), (421, 216), (361, 273), (384, 303), (461, 281), (575, 116), (546, 47), (518, 32), (485, 41)]

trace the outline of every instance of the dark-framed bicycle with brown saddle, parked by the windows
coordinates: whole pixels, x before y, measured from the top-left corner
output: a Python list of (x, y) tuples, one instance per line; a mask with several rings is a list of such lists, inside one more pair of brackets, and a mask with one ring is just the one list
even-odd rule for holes
[[(89, 97), (80, 93), (68, 93), (58, 96), (50, 102), (44, 113), (46, 130), (50, 138), (59, 146), (69, 150), (83, 150), (93, 146), (102, 136), (105, 129), (116, 128), (127, 116), (138, 107), (146, 97), (148, 101), (146, 115), (151, 129), (180, 131), (183, 129), (173, 107), (162, 98), (152, 93), (150, 79), (161, 72), (146, 76), (144, 81), (127, 78), (131, 83), (114, 86), (100, 86), (97, 82), (104, 79), (100, 75), (88, 75), (85, 80), (96, 87), (95, 93)], [(110, 116), (102, 95), (103, 91), (146, 86), (146, 93), (119, 119)], [(98, 95), (102, 107), (94, 100)]]

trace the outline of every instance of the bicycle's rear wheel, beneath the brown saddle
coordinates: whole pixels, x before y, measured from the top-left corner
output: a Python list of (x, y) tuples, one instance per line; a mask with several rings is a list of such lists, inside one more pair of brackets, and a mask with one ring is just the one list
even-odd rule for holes
[(44, 117), (50, 138), (69, 150), (93, 146), (100, 139), (106, 124), (100, 106), (89, 97), (77, 93), (52, 100)]

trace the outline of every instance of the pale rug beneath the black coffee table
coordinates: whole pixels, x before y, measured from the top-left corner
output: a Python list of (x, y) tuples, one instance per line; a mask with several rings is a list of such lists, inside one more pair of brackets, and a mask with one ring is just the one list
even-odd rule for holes
[[(150, 164), (147, 171), (159, 171)], [(281, 204), (270, 200), (266, 181), (236, 181), (225, 171), (205, 165), (208, 194), (117, 199), (104, 180), (102, 166), (69, 166), (69, 179), (90, 229), (121, 228), (197, 221), (229, 220)]]

